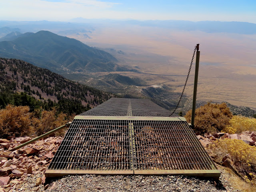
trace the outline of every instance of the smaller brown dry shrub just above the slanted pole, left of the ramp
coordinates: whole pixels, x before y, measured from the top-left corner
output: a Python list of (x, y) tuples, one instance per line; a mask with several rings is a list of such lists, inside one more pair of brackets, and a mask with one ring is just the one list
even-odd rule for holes
[[(60, 113), (56, 116), (56, 109), (51, 111), (43, 110), (41, 118), (33, 118), (33, 125), (37, 135), (42, 135), (53, 129), (56, 129), (66, 123), (66, 114)], [(63, 130), (58, 132), (58, 135), (62, 135)]]

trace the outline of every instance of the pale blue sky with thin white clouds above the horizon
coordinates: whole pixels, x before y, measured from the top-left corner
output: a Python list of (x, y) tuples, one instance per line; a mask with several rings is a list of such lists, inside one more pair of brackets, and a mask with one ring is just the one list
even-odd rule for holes
[(0, 0), (0, 20), (72, 18), (256, 23), (256, 0)]

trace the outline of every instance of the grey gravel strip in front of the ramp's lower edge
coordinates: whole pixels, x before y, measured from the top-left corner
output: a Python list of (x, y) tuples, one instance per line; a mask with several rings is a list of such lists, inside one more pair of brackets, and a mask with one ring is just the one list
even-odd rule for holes
[(46, 192), (239, 192), (220, 177), (214, 180), (188, 176), (64, 176), (50, 180)]

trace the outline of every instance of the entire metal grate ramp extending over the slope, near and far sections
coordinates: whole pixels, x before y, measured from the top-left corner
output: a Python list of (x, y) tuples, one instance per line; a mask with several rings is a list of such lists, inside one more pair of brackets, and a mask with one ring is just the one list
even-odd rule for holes
[[(154, 105), (148, 100), (112, 98), (76, 116), (46, 176), (186, 174), (219, 177), (220, 171), (186, 119), (168, 117), (169, 111), (157, 105), (150, 111)], [(93, 116), (94, 112), (97, 115)]]

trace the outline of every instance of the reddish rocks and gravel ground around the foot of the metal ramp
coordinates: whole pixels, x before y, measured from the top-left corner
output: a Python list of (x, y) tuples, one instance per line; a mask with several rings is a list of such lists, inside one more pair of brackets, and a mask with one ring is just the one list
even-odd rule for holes
[[(216, 138), (235, 138), (255, 144), (254, 132), (241, 135), (218, 133), (198, 136), (206, 146)], [(45, 178), (44, 172), (54, 157), (62, 138), (49, 137), (14, 152), (7, 151), (30, 138), (0, 139), (0, 192), (239, 192), (230, 186), (228, 173), (221, 169), (219, 181), (188, 176), (102, 176), (82, 175)], [(249, 140), (249, 141), (248, 141)], [(252, 141), (251, 141), (252, 140)]]

